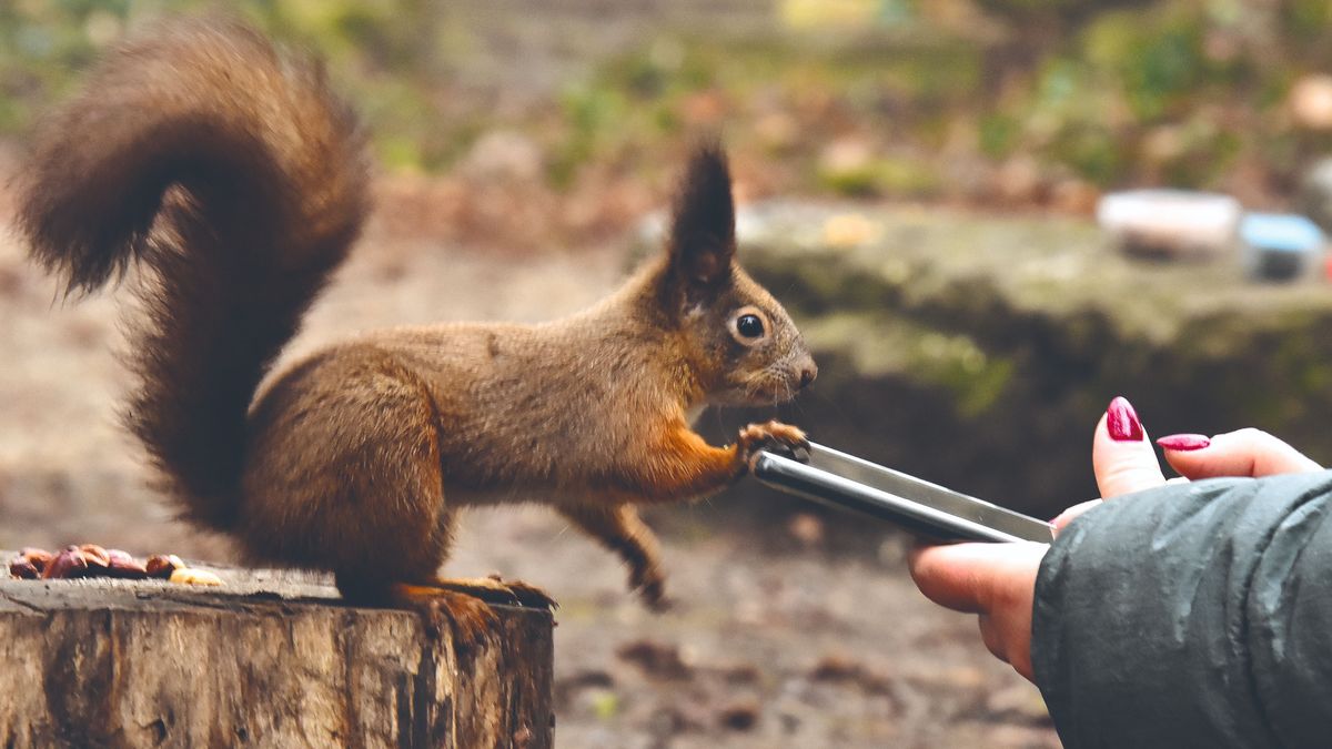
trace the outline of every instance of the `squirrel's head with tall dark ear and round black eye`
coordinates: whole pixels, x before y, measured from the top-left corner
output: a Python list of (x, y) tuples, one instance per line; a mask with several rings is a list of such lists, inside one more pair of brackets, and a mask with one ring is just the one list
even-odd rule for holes
[(773, 405), (818, 374), (791, 317), (735, 261), (735, 204), (719, 145), (690, 159), (659, 292), (706, 402)]

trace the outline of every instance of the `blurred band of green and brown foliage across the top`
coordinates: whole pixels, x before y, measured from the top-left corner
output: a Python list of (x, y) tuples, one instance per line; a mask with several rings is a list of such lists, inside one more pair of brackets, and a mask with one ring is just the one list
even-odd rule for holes
[[(213, 7), (0, 3), (0, 135), (33, 127), (123, 29)], [(557, 25), (567, 11), (538, 3), (229, 8), (325, 57), (394, 169), (448, 169), (481, 133), (505, 128), (545, 149), (550, 184), (562, 187), (587, 164), (638, 169), (645, 153), (717, 131), (733, 149), (785, 161), (787, 191), (931, 197), (966, 189), (939, 175), (942, 151), (991, 165), (1030, 155), (1042, 175), (1110, 188), (1211, 187), (1240, 163), (1260, 164), (1267, 184), (1289, 185), (1312, 155), (1332, 148), (1332, 136), (1285, 115), (1300, 76), (1332, 69), (1332, 0), (858, 0), (832, 25), (806, 23), (830, 7), (773, 0), (769, 25), (671, 21), (595, 48), (583, 48), (582, 27)], [(773, 28), (783, 20), (789, 27)], [(533, 35), (557, 40), (581, 63), (566, 69), (581, 73), (500, 115), (494, 103), (513, 80), (478, 87), (469, 71), (478, 55), (503, 64), (490, 36), (521, 45)], [(868, 156), (851, 168), (821, 165), (827, 144), (844, 137)]]

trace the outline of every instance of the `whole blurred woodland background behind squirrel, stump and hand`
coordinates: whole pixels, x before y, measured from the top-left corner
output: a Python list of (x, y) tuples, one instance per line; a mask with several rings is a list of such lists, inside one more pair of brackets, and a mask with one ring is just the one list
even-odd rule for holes
[[(0, 5), (0, 169), (104, 47), (213, 7)], [(1332, 456), (1321, 247), (1275, 283), (1240, 241), (1144, 257), (1095, 220), (1107, 195), (1168, 187), (1325, 228), (1332, 3), (228, 7), (326, 60), (380, 161), (373, 224), (293, 352), (590, 304), (655, 249), (691, 140), (721, 133), (742, 261), (821, 364), (778, 414), (817, 440), (1046, 517), (1095, 496), (1091, 429), (1116, 394), (1156, 436), (1256, 425)], [(0, 239), (0, 548), (225, 561), (224, 540), (145, 488), (115, 424), (117, 309), (61, 301)], [(773, 413), (703, 428), (722, 441), (758, 416)], [(561, 745), (1058, 745), (974, 621), (915, 593), (900, 534), (747, 485), (649, 520), (678, 601), (659, 617), (539, 508), (464, 520), (452, 572), (525, 577), (562, 602)]]

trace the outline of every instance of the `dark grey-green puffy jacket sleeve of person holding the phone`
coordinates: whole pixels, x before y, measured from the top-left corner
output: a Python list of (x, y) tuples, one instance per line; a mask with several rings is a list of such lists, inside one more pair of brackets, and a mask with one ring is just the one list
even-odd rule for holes
[(1064, 745), (1332, 746), (1332, 472), (1172, 484), (1074, 521), (1032, 662)]

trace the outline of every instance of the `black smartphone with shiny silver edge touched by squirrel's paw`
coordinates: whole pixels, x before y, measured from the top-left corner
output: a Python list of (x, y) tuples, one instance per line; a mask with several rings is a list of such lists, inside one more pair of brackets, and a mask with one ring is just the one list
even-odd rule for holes
[(809, 462), (762, 452), (754, 477), (782, 492), (855, 510), (940, 541), (1054, 540), (1054, 526), (900, 470), (810, 444)]

